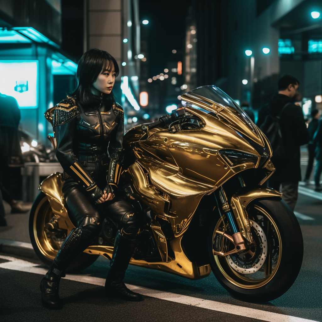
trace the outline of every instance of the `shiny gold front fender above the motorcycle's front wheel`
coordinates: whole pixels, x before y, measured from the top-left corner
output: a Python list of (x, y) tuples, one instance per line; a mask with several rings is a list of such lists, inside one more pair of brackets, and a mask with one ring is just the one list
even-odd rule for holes
[(257, 198), (271, 198), (271, 197), (282, 197), (279, 191), (276, 191), (271, 188), (249, 188), (244, 187), (239, 190), (238, 193), (232, 196), (230, 205), (232, 207), (232, 211), (236, 217), (236, 221), (240, 232), (249, 242), (253, 242), (253, 238), (251, 235), (251, 224), (248, 219), (248, 214), (246, 212), (247, 205), (254, 199)]

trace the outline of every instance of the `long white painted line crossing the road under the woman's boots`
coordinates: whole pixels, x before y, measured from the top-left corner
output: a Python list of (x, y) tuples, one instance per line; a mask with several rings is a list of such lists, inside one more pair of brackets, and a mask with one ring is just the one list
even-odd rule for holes
[[(47, 269), (36, 267), (38, 264), (34, 264), (28, 262), (26, 260), (20, 260), (10, 256), (0, 255), (0, 258), (4, 260), (10, 260), (9, 262), (0, 263), (0, 268), (8, 269), (8, 270), (19, 270), (28, 273), (35, 273), (40, 275), (45, 275)], [(104, 286), (105, 279), (92, 277), (92, 276), (84, 276), (84, 275), (66, 275), (65, 279), (83, 282), (93, 285)], [(227, 303), (221, 303), (211, 300), (206, 300), (204, 298), (195, 298), (192, 296), (186, 296), (181, 294), (175, 294), (170, 292), (159, 291), (155, 289), (147, 289), (141, 286), (135, 286), (126, 284), (126, 286), (132, 291), (138, 292), (145, 296), (150, 296), (153, 298), (159, 298), (166, 301), (181, 303), (185, 305), (192, 305), (198, 308), (206, 308), (208, 310), (219, 311), (223, 313), (234, 314), (243, 317), (250, 317), (253, 319), (259, 319), (263, 321), (270, 322), (317, 322), (313, 320), (304, 319), (301, 317), (293, 317), (289, 315), (268, 312), (263, 310), (258, 310), (255, 308), (246, 308), (243, 306), (232, 305)]]

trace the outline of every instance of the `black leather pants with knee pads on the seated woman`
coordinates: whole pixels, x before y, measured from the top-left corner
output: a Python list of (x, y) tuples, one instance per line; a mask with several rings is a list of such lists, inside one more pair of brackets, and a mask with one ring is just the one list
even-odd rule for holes
[(66, 270), (71, 261), (98, 236), (105, 216), (116, 224), (123, 237), (129, 241), (136, 240), (141, 225), (140, 214), (125, 200), (116, 196), (111, 201), (96, 204), (72, 179), (66, 180), (63, 193), (68, 211), (78, 227), (68, 235), (54, 260), (61, 270)]

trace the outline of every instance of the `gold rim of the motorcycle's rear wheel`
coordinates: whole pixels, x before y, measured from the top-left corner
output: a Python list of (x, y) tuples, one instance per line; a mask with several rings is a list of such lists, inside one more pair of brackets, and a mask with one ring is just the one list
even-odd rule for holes
[(38, 249), (48, 260), (54, 260), (60, 248), (52, 239), (48, 239), (44, 231), (45, 224), (54, 216), (48, 197), (38, 204), (33, 217), (33, 236)]

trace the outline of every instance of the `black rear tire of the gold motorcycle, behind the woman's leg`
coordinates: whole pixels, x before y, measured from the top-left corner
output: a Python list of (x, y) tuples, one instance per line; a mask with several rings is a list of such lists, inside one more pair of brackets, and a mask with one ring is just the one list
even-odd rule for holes
[[(29, 236), (31, 243), (33, 245), (33, 249), (36, 252), (38, 258), (46, 265), (50, 266), (52, 264), (53, 256), (45, 255), (38, 247), (37, 242), (36, 242), (36, 236), (34, 232), (34, 217), (36, 214), (36, 210), (38, 208), (38, 205), (41, 204), (42, 207), (40, 208), (40, 211), (44, 210), (47, 212), (51, 211), (51, 207), (49, 204), (48, 197), (43, 193), (40, 192), (38, 196), (36, 197), (35, 201), (33, 202), (33, 206), (30, 211), (30, 217), (29, 217)], [(39, 210), (38, 210), (39, 211)], [(37, 213), (37, 216), (43, 215), (42, 213)], [(91, 255), (87, 253), (81, 253), (78, 255), (72, 262), (71, 265), (68, 267), (66, 270), (67, 273), (72, 273), (72, 272), (78, 272), (80, 270), (83, 270), (90, 265), (92, 265), (95, 260), (99, 255)]]

